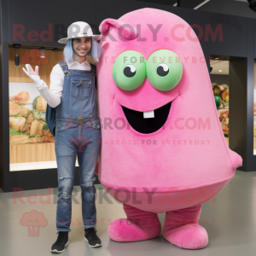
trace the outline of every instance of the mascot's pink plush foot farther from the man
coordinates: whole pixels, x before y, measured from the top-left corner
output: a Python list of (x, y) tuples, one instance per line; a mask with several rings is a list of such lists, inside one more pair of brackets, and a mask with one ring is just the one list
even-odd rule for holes
[(167, 241), (185, 249), (201, 249), (208, 244), (207, 230), (199, 224), (186, 224), (163, 232)]

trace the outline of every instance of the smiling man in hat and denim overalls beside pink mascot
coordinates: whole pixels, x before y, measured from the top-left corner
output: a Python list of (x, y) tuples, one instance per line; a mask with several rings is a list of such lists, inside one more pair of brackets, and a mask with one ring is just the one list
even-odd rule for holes
[[(102, 246), (96, 236), (96, 206), (94, 186), (96, 160), (101, 146), (100, 120), (97, 115), (95, 73), (87, 61), (91, 55), (99, 61), (102, 47), (96, 42), (102, 35), (93, 35), (86, 22), (74, 22), (67, 29), (64, 61), (59, 61), (50, 73), (50, 85), (38, 74), (30, 74), (30, 65), (24, 72), (55, 112), (55, 154), (58, 170), (58, 201), (56, 228), (58, 238), (51, 247), (52, 253), (62, 253), (68, 244), (72, 213), (72, 191), (76, 155), (79, 160), (79, 177), (82, 195), (84, 239), (90, 247)], [(36, 72), (38, 67), (36, 67)], [(85, 141), (83, 150), (80, 141)]]

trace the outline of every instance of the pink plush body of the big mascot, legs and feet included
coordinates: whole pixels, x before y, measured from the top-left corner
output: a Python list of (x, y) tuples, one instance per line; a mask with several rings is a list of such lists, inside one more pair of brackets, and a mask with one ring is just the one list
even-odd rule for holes
[[(102, 120), (99, 178), (108, 193), (124, 203), (129, 219), (114, 220), (108, 235), (114, 241), (159, 236), (156, 213), (166, 212), (162, 235), (167, 241), (189, 249), (206, 247), (207, 231), (198, 224), (201, 204), (229, 183), (241, 157), (225, 142), (201, 44), (187, 22), (159, 9), (138, 9), (119, 20), (103, 20), (100, 31), (106, 39), (97, 65)], [(159, 49), (171, 50), (183, 64), (174, 89), (157, 90), (147, 77), (136, 90), (115, 84), (113, 62), (122, 52), (137, 51), (147, 61)], [(161, 62), (166, 61), (163, 56)], [(127, 64), (132, 64), (129, 58)], [(163, 112), (165, 124), (153, 132), (133, 129), (125, 116), (125, 108), (137, 113), (154, 110), (152, 120), (158, 122), (161, 113), (155, 109), (169, 102), (170, 109)]]

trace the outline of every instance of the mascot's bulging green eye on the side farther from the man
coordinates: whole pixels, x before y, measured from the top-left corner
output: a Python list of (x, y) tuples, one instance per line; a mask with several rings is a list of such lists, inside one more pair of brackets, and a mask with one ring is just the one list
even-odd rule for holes
[(148, 57), (147, 77), (157, 90), (172, 90), (183, 76), (183, 64), (177, 54), (169, 49), (156, 50)]

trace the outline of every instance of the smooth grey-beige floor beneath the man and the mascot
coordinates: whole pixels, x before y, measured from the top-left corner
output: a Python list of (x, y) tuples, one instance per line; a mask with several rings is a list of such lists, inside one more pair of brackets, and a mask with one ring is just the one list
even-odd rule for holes
[[(134, 256), (134, 255), (256, 255), (256, 172), (236, 171), (236, 176), (217, 195), (216, 204), (204, 204), (200, 223), (204, 224), (209, 236), (209, 244), (201, 250), (184, 250), (175, 247), (162, 236), (149, 241), (119, 243), (108, 237), (108, 223), (115, 218), (125, 218), (123, 207), (108, 195), (102, 200), (104, 193), (101, 185), (96, 185), (97, 197), (97, 234), (102, 239), (102, 247), (91, 248), (84, 241), (84, 230), (81, 224), (80, 187), (74, 188), (72, 232), (69, 232), (69, 245), (61, 255), (94, 255), (94, 256)], [(29, 197), (28, 195), (34, 194)], [(56, 189), (25, 191), (24, 195), (0, 192), (0, 255), (46, 256), (53, 255), (49, 249), (56, 240), (55, 212)], [(39, 197), (41, 195), (41, 197)], [(19, 197), (19, 198), (17, 198)], [(43, 201), (42, 201), (43, 199)], [(47, 201), (48, 200), (48, 201)], [(20, 224), (26, 212), (35, 210), (42, 212), (47, 220), (41, 226), (38, 236), (28, 227)], [(165, 213), (159, 214), (163, 223)], [(213, 224), (212, 224), (213, 221)]]

